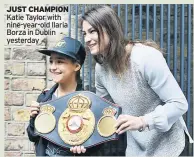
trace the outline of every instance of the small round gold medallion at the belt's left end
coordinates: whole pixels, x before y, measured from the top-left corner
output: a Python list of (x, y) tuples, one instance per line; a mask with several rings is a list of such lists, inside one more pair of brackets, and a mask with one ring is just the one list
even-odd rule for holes
[(54, 111), (55, 107), (49, 104), (40, 107), (40, 114), (35, 119), (35, 128), (38, 132), (46, 134), (55, 128), (56, 119), (52, 114)]

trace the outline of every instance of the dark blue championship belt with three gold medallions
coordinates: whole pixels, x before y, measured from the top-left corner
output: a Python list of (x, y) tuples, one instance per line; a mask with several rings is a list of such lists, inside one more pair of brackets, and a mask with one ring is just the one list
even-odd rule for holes
[(89, 91), (76, 91), (40, 104), (35, 134), (61, 146), (89, 148), (118, 139), (116, 118), (121, 107)]

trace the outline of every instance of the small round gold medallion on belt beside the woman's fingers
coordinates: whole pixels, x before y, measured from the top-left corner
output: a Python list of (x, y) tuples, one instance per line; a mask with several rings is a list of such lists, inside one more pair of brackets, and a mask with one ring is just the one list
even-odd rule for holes
[(116, 110), (112, 107), (107, 107), (103, 110), (103, 116), (99, 119), (97, 124), (97, 130), (103, 137), (109, 137), (116, 131), (114, 125), (116, 124)]

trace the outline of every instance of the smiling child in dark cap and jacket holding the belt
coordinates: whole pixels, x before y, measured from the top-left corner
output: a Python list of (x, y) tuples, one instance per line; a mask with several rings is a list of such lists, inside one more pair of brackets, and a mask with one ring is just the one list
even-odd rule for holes
[[(30, 124), (27, 128), (28, 137), (30, 141), (35, 143), (37, 156), (73, 156), (74, 154), (70, 150), (64, 150), (54, 143), (35, 135), (34, 120), (39, 113), (40, 102), (54, 100), (70, 92), (82, 90), (80, 69), (84, 63), (86, 52), (79, 41), (69, 37), (64, 37), (54, 48), (40, 50), (40, 52), (50, 56), (49, 71), (56, 84), (49, 91), (41, 93), (37, 102), (31, 105)], [(75, 148), (80, 150), (82, 148), (82, 151), (78, 151), (78, 153), (85, 153), (83, 146), (75, 146)], [(93, 153), (92, 150), (85, 155), (90, 155), (89, 153)]]

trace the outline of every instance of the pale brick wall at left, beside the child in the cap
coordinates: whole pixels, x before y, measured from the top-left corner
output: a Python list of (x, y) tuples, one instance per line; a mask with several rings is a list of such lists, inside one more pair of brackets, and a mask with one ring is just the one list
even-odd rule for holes
[[(9, 5), (5, 5), (5, 9), (7, 7)], [(49, 14), (51, 13), (47, 13)], [(68, 22), (67, 14), (60, 15), (61, 21)], [(26, 132), (30, 118), (29, 107), (42, 90), (53, 85), (48, 74), (48, 57), (37, 50), (53, 46), (68, 32), (67, 28), (53, 30), (56, 31), (56, 35), (36, 36), (40, 40), (38, 45), (5, 44), (4, 46), (4, 155), (6, 157), (35, 156), (34, 145), (29, 141)]]

